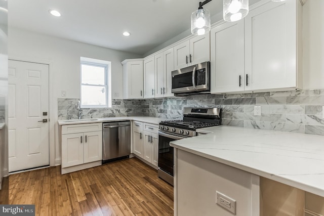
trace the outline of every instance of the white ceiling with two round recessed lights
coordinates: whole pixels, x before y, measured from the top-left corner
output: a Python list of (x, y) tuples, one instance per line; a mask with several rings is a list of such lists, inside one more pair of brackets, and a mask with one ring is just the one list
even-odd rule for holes
[[(201, 0), (200, 0), (201, 1)], [(257, 2), (259, 0), (250, 0)], [(9, 0), (9, 27), (143, 55), (190, 28), (199, 0)], [(222, 13), (223, 0), (204, 6)], [(62, 16), (54, 17), (50, 9)], [(131, 36), (122, 35), (130, 31)]]

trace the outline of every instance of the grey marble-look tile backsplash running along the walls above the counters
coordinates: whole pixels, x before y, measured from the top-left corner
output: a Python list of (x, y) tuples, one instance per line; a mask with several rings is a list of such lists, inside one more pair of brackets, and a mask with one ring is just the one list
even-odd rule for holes
[[(58, 119), (77, 118), (78, 99), (58, 99)], [(254, 116), (254, 106), (261, 115)], [(324, 90), (298, 90), (145, 100), (112, 100), (111, 108), (83, 109), (84, 118), (145, 115), (182, 118), (183, 107), (220, 107), (222, 124), (324, 135)]]

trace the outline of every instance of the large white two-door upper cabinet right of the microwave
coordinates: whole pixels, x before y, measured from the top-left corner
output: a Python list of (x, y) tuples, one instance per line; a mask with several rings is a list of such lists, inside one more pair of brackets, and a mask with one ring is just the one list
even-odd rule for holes
[(268, 1), (244, 20), (214, 27), (211, 93), (301, 88), (300, 7), (297, 0)]

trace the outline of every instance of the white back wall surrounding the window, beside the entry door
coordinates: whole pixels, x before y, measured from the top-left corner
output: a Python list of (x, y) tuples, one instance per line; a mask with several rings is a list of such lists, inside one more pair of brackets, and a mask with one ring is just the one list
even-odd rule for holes
[[(50, 105), (53, 106), (53, 112), (50, 114), (51, 122), (57, 122), (57, 99), (62, 98), (62, 90), (66, 91), (66, 98), (80, 98), (80, 57), (111, 62), (112, 96), (118, 93), (118, 98), (123, 97), (123, 70), (120, 62), (124, 59), (141, 57), (12, 27), (9, 27), (8, 49), (9, 59), (50, 63), (50, 86), (52, 84)], [(56, 132), (55, 159), (60, 163), (61, 149), (57, 128), (56, 124), (55, 127), (50, 126), (50, 130), (55, 129)]]

